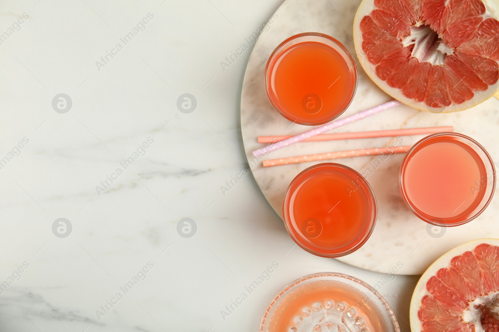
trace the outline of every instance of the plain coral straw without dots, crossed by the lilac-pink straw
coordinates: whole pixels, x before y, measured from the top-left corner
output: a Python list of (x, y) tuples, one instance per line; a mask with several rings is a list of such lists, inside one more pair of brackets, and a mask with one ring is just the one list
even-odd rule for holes
[[(420, 135), (420, 134), (429, 135), (445, 131), (454, 131), (454, 127), (446, 126), (446, 127), (344, 132), (336, 134), (320, 134), (317, 136), (308, 137), (302, 140), (302, 142), (318, 142), (318, 141), (332, 141), (338, 139), (357, 139), (357, 138), (372, 138), (372, 137), (408, 136), (408, 135)], [(289, 137), (292, 136), (258, 136), (258, 143), (275, 143)]]

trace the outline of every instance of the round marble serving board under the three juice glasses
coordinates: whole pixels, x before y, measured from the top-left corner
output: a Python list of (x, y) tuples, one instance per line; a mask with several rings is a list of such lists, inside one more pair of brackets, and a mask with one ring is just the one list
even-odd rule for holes
[[(241, 97), (241, 129), (246, 156), (253, 176), (263, 195), (282, 218), (282, 200), (291, 180), (305, 168), (318, 162), (263, 168), (261, 160), (342, 151), (356, 148), (388, 146), (398, 137), (356, 139), (350, 141), (302, 142), (255, 158), (251, 151), (263, 144), (257, 136), (294, 135), (311, 129), (293, 124), (275, 111), (267, 100), (264, 69), (268, 56), (284, 39), (301, 32), (322, 32), (340, 40), (354, 55), (353, 17), (361, 0), (286, 0), (274, 14), (274, 20), (258, 38), (252, 51)], [(270, 27), (270, 29), (268, 29)], [(343, 114), (347, 116), (388, 102), (391, 97), (380, 90), (360, 65), (359, 85), (355, 99)], [(499, 101), (492, 98), (462, 112), (433, 114), (402, 105), (392, 110), (340, 127), (345, 131), (399, 129), (453, 125), (455, 131), (481, 142), (495, 160), (499, 160)], [(342, 116), (342, 117), (343, 117)], [(339, 130), (331, 132), (339, 132)], [(412, 145), (423, 138), (404, 136), (401, 145)], [(378, 202), (378, 220), (369, 240), (356, 252), (339, 258), (350, 265), (387, 273), (397, 263), (398, 274), (422, 274), (439, 256), (464, 242), (483, 237), (499, 238), (499, 199), (476, 220), (462, 226), (432, 229), (414, 216), (404, 204), (398, 189), (398, 174), (404, 155), (395, 155), (381, 165), (377, 157), (339, 159), (367, 177)], [(370, 171), (369, 171), (370, 170)], [(439, 232), (435, 234), (435, 232)], [(300, 250), (300, 249), (295, 249)], [(326, 258), (324, 258), (326, 259)], [(395, 271), (397, 269), (393, 269)], [(353, 272), (353, 271), (352, 271)]]

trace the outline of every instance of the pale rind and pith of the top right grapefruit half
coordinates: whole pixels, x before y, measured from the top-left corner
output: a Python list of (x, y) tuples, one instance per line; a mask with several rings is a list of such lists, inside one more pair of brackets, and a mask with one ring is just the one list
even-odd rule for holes
[[(482, 0), (482, 1), (484, 2), (485, 7), (487, 9), (485, 17), (498, 18), (499, 0)], [(357, 59), (359, 60), (359, 63), (361, 64), (362, 68), (369, 76), (369, 78), (371, 78), (371, 80), (388, 95), (418, 110), (428, 111), (432, 113), (450, 113), (450, 112), (468, 110), (494, 97), (496, 93), (499, 93), (499, 81), (498, 81), (496, 84), (490, 85), (489, 89), (487, 89), (486, 91), (475, 91), (474, 92), (475, 96), (469, 101), (466, 101), (462, 104), (453, 103), (447, 108), (440, 108), (433, 110), (424, 102), (418, 102), (414, 99), (407, 98), (402, 94), (400, 89), (390, 87), (385, 81), (381, 80), (378, 77), (378, 75), (376, 74), (376, 67), (371, 63), (369, 63), (366, 54), (362, 50), (363, 37), (362, 37), (362, 32), (360, 31), (360, 22), (362, 21), (362, 18), (364, 16), (369, 15), (371, 11), (373, 11), (374, 9), (376, 9), (376, 7), (374, 6), (374, 0), (362, 0), (354, 17), (353, 41), (355, 46), (355, 52), (357, 54)]]

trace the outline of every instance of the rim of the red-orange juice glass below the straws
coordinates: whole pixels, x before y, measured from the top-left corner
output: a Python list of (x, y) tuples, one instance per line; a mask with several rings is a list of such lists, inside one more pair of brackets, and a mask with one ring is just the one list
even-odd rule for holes
[[(291, 192), (291, 187), (296, 182), (298, 182), (300, 180), (300, 178), (304, 174), (306, 174), (307, 172), (311, 171), (312, 169), (319, 168), (319, 167), (326, 167), (326, 166), (340, 167), (340, 168), (346, 169), (346, 170), (348, 170), (350, 172), (353, 172), (354, 174), (358, 175), (362, 179), (362, 183), (367, 188), (367, 191), (368, 191), (369, 195), (371, 196), (372, 202), (373, 202), (372, 203), (372, 214), (371, 214), (371, 218), (370, 218), (371, 220), (370, 221), (366, 220), (366, 223), (369, 222), (369, 223), (371, 223), (371, 225), (369, 226), (369, 229), (367, 229), (367, 227), (364, 228), (364, 229), (367, 229), (367, 232), (364, 235), (364, 237), (362, 238), (362, 240), (359, 241), (357, 244), (355, 244), (352, 248), (350, 248), (348, 250), (345, 250), (345, 251), (342, 251), (342, 252), (336, 252), (336, 253), (324, 253), (324, 252), (320, 252), (320, 251), (308, 248), (306, 245), (304, 245), (301, 242), (301, 240), (297, 236), (294, 235), (294, 233), (292, 231), (292, 230), (295, 230), (295, 227), (293, 227), (291, 225), (291, 222), (289, 221), (289, 219), (290, 219), (290, 216), (289, 216), (290, 215), (289, 214), (289, 204), (287, 204), (287, 200), (288, 200), (289, 196), (292, 195), (292, 193), (294, 193), (294, 191)], [(287, 209), (286, 209), (286, 206), (287, 206)], [(305, 251), (307, 251), (307, 252), (309, 252), (309, 253), (311, 253), (313, 255), (319, 256), (319, 257), (337, 258), (337, 257), (342, 257), (342, 256), (349, 255), (352, 252), (358, 250), (371, 237), (371, 234), (374, 231), (374, 226), (376, 225), (377, 218), (378, 218), (378, 203), (376, 201), (376, 196), (374, 195), (374, 191), (372, 190), (371, 185), (369, 185), (369, 182), (367, 182), (367, 180), (362, 176), (362, 174), (360, 174), (359, 172), (357, 172), (353, 168), (348, 167), (348, 166), (343, 165), (343, 164), (338, 164), (338, 163), (320, 163), (320, 164), (315, 164), (315, 165), (312, 165), (310, 167), (307, 167), (306, 169), (304, 169), (303, 171), (301, 171), (300, 173), (298, 173), (298, 175), (296, 175), (293, 178), (293, 180), (291, 181), (291, 183), (287, 187), (286, 194), (284, 195), (284, 200), (282, 202), (282, 219), (284, 221), (284, 226), (286, 227), (286, 230), (287, 230), (289, 236), (291, 236), (291, 238), (293, 239), (293, 241), (297, 245), (299, 245), (300, 248), (302, 248), (303, 250), (305, 250)], [(335, 251), (334, 248), (332, 248), (332, 250)]]

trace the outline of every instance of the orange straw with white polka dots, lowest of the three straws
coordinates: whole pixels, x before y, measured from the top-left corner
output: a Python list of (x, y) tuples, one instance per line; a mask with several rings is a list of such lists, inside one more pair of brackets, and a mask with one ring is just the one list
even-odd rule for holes
[(271, 167), (278, 165), (299, 164), (307, 161), (330, 160), (339, 158), (359, 157), (359, 156), (373, 156), (380, 154), (393, 155), (395, 153), (405, 153), (411, 148), (410, 145), (396, 146), (396, 147), (376, 147), (372, 149), (361, 150), (348, 150), (338, 152), (327, 152), (319, 154), (310, 154), (306, 156), (297, 156), (281, 159), (263, 160), (263, 167)]

